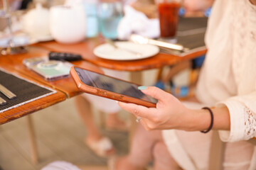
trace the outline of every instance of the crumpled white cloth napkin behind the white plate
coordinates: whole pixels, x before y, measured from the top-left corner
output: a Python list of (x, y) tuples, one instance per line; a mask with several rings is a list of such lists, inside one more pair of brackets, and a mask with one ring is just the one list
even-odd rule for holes
[(132, 6), (124, 6), (124, 17), (119, 22), (117, 37), (120, 40), (127, 40), (132, 33), (146, 38), (158, 38), (160, 35), (159, 19), (149, 19)]

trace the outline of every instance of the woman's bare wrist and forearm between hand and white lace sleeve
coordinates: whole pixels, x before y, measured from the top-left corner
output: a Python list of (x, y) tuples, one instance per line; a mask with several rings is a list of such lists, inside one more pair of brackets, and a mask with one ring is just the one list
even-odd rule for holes
[[(230, 115), (227, 107), (211, 108), (213, 111), (213, 129), (230, 130)], [(207, 130), (210, 126), (210, 113), (208, 110), (188, 110), (184, 130), (196, 131)]]

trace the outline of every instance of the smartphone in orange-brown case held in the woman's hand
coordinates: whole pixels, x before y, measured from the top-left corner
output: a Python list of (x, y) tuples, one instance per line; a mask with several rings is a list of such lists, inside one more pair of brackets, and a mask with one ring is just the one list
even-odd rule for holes
[(136, 103), (148, 108), (155, 108), (157, 100), (146, 96), (138, 89), (137, 84), (116, 79), (104, 74), (73, 66), (70, 75), (80, 91), (87, 94), (110, 98), (125, 103)]

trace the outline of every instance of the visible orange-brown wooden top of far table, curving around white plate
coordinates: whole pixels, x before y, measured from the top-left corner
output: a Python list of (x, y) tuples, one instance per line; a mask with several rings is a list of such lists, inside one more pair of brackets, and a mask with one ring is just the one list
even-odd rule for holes
[(116, 61), (116, 60), (105, 60), (97, 57), (93, 54), (93, 49), (104, 43), (102, 38), (91, 38), (84, 42), (77, 44), (60, 44), (55, 41), (38, 43), (35, 46), (44, 47), (51, 51), (56, 52), (73, 52), (82, 55), (82, 59), (95, 64), (99, 67), (104, 67), (107, 69), (114, 69), (120, 71), (143, 71), (146, 69), (157, 69), (168, 65), (177, 64), (184, 60), (191, 60), (193, 58), (199, 57), (206, 54), (206, 50), (201, 50), (198, 52), (193, 52), (184, 57), (178, 57), (176, 55), (159, 53), (154, 57), (149, 57), (143, 60), (132, 60), (132, 61)]

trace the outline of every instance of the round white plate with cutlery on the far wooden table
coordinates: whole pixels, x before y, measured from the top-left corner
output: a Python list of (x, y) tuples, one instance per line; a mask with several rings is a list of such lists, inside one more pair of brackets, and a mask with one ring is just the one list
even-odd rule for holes
[[(139, 45), (129, 41), (115, 42), (115, 45), (118, 48), (105, 43), (95, 47), (93, 52), (97, 57), (108, 60), (140, 60), (159, 53), (159, 47), (155, 45)], [(134, 52), (141, 55), (136, 55)]]

